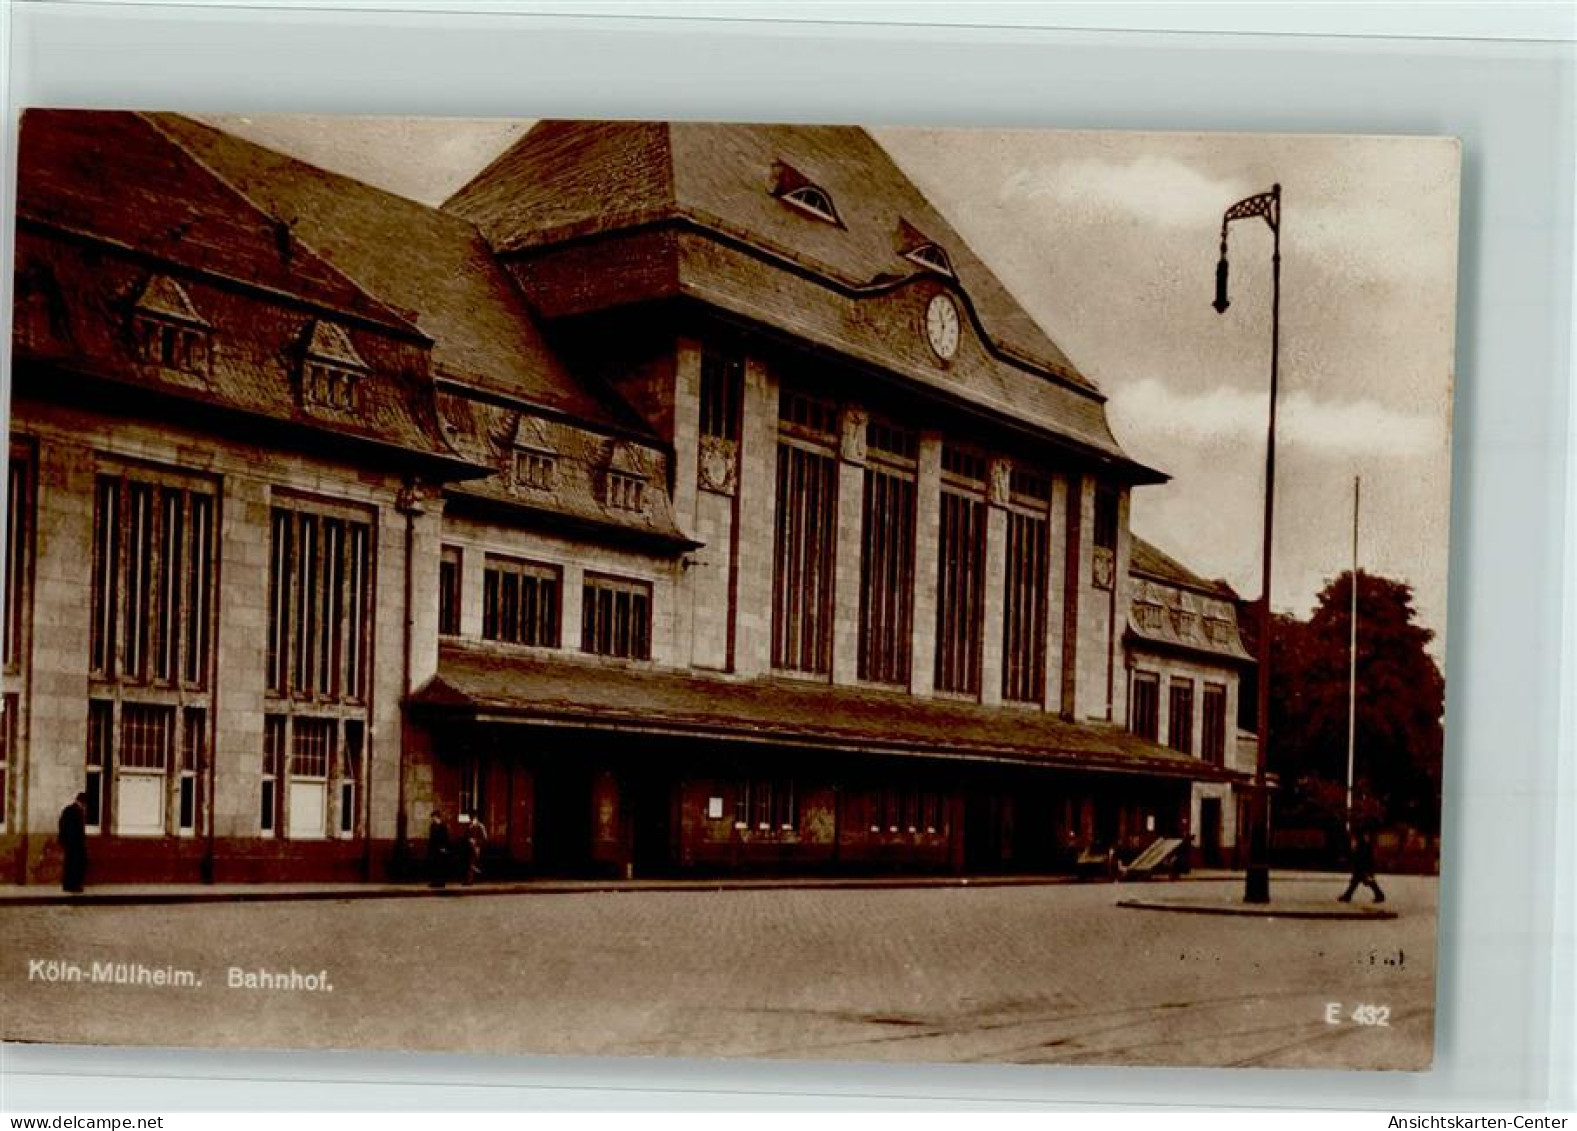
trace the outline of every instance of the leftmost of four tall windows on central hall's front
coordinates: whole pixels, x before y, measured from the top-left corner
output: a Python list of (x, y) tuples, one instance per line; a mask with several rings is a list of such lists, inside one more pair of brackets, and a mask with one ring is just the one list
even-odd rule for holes
[(784, 391), (773, 547), (773, 667), (833, 667), (833, 563), (837, 547), (837, 409)]

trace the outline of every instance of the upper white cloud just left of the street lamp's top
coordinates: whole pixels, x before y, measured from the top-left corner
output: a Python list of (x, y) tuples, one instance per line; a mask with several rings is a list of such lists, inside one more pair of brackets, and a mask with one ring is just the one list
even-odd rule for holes
[(1049, 200), (1082, 211), (1121, 211), (1165, 227), (1200, 227), (1247, 196), (1243, 185), (1216, 180), (1167, 156), (1132, 161), (1080, 158), (1050, 170), (1020, 169), (1003, 185), (1005, 200)]

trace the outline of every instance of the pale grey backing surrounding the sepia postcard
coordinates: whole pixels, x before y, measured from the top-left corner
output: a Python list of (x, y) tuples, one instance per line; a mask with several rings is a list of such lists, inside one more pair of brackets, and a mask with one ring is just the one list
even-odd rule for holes
[[(9, 5), (0, 25), (13, 65), (6, 219), (21, 106), (1460, 137), (1437, 1068), (1232, 1073), (6, 1046), (0, 1107), (1577, 1103), (1569, 6), (801, 0), (755, 13), (792, 19), (751, 21), (659, 19), (730, 9), (703, 3), (337, 8)], [(577, 14), (505, 14), (511, 8)], [(1115, 30), (1123, 27), (1175, 30)], [(1322, 30), (1336, 35), (1310, 35)], [(9, 262), (9, 224), (3, 252)]]

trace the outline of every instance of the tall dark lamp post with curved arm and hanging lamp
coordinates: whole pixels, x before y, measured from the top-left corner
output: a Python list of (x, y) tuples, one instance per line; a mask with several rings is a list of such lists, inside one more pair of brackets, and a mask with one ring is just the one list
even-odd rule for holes
[(1265, 442), (1265, 544), (1260, 560), (1260, 686), (1258, 749), (1254, 757), (1254, 792), (1249, 795), (1249, 869), (1243, 902), (1271, 901), (1269, 798), (1265, 790), (1266, 751), (1271, 730), (1271, 530), (1276, 519), (1276, 379), (1281, 358), (1281, 185), (1269, 192), (1244, 197), (1221, 218), (1221, 262), (1216, 263), (1216, 314), (1227, 306), (1227, 226), (1235, 219), (1260, 216), (1271, 229), (1271, 412)]

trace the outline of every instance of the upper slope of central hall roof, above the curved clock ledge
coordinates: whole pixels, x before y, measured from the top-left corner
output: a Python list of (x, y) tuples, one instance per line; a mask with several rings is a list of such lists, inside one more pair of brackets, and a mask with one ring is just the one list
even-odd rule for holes
[[(788, 162), (825, 189), (842, 226), (807, 224), (773, 196)], [(1093, 385), (1046, 336), (953, 226), (858, 126), (699, 121), (544, 121), (460, 188), (445, 208), (500, 251), (661, 216), (714, 221), (818, 267), (847, 286), (915, 273), (924, 232), (953, 263), (989, 334), (1016, 356)]]

